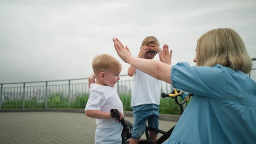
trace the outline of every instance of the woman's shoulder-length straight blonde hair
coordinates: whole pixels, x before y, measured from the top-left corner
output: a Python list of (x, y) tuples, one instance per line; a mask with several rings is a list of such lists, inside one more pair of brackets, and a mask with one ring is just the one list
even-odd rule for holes
[(248, 74), (252, 69), (252, 60), (245, 43), (230, 28), (213, 29), (201, 36), (196, 46), (196, 65), (211, 66), (216, 64), (240, 70)]

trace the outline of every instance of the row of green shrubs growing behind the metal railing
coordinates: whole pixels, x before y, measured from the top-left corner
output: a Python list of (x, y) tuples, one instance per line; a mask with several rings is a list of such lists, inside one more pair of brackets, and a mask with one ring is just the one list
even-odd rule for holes
[[(131, 111), (131, 95), (129, 94), (119, 94), (120, 100), (123, 103), (124, 111)], [(89, 93), (78, 93), (73, 95), (70, 99), (69, 107), (71, 109), (84, 109), (85, 105), (89, 99)], [(20, 109), (22, 108), (23, 100), (4, 100), (2, 101), (2, 109)], [(68, 108), (68, 96), (63, 93), (50, 94), (47, 98), (48, 108)], [(37, 99), (32, 97), (25, 100), (25, 108), (44, 108), (45, 99)], [(114, 107), (113, 107), (114, 108)], [(181, 110), (179, 105), (176, 104), (175, 100), (172, 98), (165, 98), (160, 100), (159, 113), (181, 115)]]

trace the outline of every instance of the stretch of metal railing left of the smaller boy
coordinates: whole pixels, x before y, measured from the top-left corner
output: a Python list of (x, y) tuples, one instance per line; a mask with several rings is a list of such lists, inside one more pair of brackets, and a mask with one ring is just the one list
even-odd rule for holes
[[(84, 106), (83, 97), (89, 95), (88, 80), (70, 79), (54, 81), (1, 83), (0, 109)], [(73, 83), (72, 83), (73, 82)], [(82, 102), (82, 103), (81, 103)]]

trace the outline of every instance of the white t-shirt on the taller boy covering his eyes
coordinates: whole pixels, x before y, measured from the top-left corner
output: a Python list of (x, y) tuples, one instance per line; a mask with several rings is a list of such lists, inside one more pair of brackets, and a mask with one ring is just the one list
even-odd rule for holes
[(160, 103), (160, 80), (136, 69), (131, 106)]

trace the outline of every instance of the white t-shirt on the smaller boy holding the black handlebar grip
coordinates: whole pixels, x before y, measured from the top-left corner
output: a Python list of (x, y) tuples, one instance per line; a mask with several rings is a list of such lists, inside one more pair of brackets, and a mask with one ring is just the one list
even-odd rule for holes
[[(111, 109), (118, 109), (122, 113), (123, 103), (117, 91), (110, 86), (102, 86), (91, 83), (90, 97), (85, 106), (86, 110), (99, 110), (110, 112)], [(112, 118), (95, 119), (97, 127), (95, 131), (95, 143), (121, 143), (123, 126)]]

